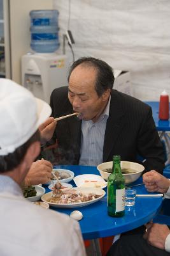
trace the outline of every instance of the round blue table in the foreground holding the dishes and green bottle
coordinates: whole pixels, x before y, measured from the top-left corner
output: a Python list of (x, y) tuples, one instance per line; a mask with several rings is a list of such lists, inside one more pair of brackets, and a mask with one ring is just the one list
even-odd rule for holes
[[(74, 172), (74, 176), (80, 174), (97, 174), (95, 166), (57, 166), (58, 168), (66, 168)], [(141, 183), (139, 178), (134, 184)], [(70, 182), (75, 186), (74, 181)], [(149, 194), (144, 185), (135, 187), (138, 194)], [(49, 189), (46, 187), (46, 192)], [(104, 196), (100, 201), (87, 205), (85, 207), (72, 209), (53, 208), (55, 211), (70, 214), (74, 210), (81, 211), (83, 219), (79, 221), (81, 232), (84, 239), (97, 239), (99, 237), (113, 236), (137, 228), (152, 218), (159, 212), (162, 204), (162, 197), (142, 198), (136, 197), (134, 207), (125, 209), (125, 216), (121, 218), (113, 218), (107, 213), (107, 196)]]

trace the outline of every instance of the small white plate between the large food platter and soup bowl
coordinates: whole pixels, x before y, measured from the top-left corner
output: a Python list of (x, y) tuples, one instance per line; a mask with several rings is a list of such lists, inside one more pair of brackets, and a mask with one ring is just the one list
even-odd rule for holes
[(82, 188), (106, 188), (107, 186), (107, 182), (103, 179), (103, 177), (96, 174), (78, 175), (74, 177), (73, 180), (77, 187)]

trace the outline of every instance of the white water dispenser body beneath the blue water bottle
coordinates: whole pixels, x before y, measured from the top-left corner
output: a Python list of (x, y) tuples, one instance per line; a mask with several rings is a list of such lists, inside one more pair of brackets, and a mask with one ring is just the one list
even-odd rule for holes
[(67, 85), (67, 70), (66, 55), (28, 53), (22, 56), (22, 85), (49, 103), (53, 89)]

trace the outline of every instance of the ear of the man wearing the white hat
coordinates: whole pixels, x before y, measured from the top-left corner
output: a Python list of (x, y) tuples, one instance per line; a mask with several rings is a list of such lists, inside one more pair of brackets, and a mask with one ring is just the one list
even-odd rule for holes
[(40, 142), (34, 141), (29, 146), (24, 156), (24, 160), (27, 163), (27, 166), (31, 166), (32, 162), (36, 159), (36, 157), (38, 157), (39, 152), (40, 152)]

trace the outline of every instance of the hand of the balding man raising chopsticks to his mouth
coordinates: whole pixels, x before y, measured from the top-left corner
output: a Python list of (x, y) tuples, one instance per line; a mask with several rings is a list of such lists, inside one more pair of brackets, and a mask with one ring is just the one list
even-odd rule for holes
[(39, 132), (41, 135), (41, 143), (51, 140), (57, 122), (53, 117), (49, 117), (43, 124), (39, 125)]

